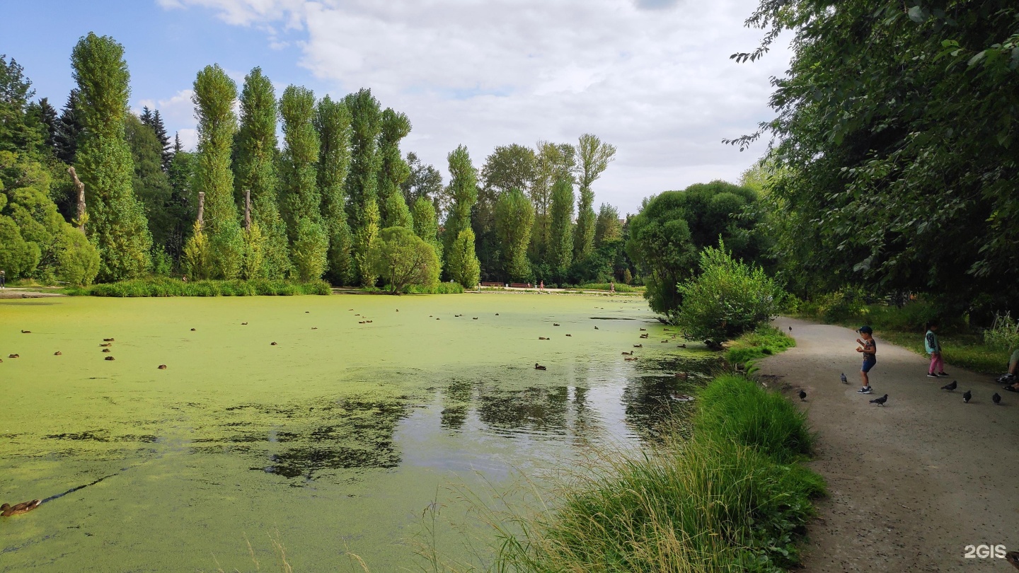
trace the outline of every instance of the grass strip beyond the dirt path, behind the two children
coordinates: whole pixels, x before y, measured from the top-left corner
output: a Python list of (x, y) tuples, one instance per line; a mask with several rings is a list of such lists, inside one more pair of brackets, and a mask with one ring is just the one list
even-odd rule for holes
[(908, 303), (902, 308), (883, 304), (801, 304), (797, 315), (850, 328), (869, 324), (881, 340), (924, 356), (923, 326), (927, 320), (940, 319), (937, 340), (942, 344), (945, 362), (985, 374), (1005, 372), (1011, 354), (1010, 350), (985, 344), (982, 332), (972, 328), (962, 318), (938, 316), (932, 305), (922, 301)]

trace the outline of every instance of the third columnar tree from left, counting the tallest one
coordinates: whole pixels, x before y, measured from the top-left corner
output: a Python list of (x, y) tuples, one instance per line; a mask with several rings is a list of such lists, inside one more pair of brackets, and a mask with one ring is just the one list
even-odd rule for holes
[[(233, 162), (234, 198), (244, 204), (251, 193), (252, 227), (249, 250), (256, 245), (252, 237), (260, 233), (262, 265), (246, 274), (282, 278), (291, 268), (287, 252), (286, 224), (279, 213), (276, 173), (276, 93), (272, 82), (256, 67), (245, 76), (240, 90), (240, 129), (236, 139), (236, 159)], [(254, 267), (254, 265), (246, 265)]]

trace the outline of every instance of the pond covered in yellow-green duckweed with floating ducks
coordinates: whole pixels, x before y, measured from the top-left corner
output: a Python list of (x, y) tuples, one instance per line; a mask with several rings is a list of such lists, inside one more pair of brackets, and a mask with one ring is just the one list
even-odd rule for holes
[(0, 571), (272, 569), (270, 537), (417, 570), (433, 502), (473, 551), (448, 484), (653, 436), (712, 356), (681, 342), (634, 297), (0, 301), (0, 502), (45, 500), (0, 519)]

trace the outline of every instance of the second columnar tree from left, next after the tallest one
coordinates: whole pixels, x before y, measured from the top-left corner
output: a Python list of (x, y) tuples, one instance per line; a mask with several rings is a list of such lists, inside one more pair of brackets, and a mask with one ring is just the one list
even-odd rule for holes
[(236, 97), (236, 84), (218, 64), (198, 72), (192, 96), (198, 116), (194, 186), (196, 193), (205, 193), (204, 229), (214, 278), (236, 278), (244, 257), (230, 169), (230, 149), (237, 128), (233, 113)]

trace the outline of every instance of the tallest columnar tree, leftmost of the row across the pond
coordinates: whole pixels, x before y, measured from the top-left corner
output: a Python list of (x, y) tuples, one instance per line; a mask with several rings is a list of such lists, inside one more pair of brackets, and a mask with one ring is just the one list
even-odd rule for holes
[(99, 250), (100, 280), (141, 276), (152, 265), (152, 237), (131, 189), (133, 165), (124, 139), (130, 74), (123, 46), (89, 33), (71, 52), (82, 133), (74, 166), (85, 184), (86, 229)]

